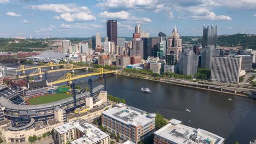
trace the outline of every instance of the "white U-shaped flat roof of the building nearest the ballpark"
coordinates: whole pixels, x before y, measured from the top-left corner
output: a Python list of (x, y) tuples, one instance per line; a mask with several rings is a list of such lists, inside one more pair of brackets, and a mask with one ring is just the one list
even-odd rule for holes
[(89, 124), (83, 121), (82, 119), (60, 125), (59, 127), (55, 127), (54, 129), (60, 134), (65, 134), (72, 129), (78, 129), (79, 131), (84, 133), (83, 137), (80, 137), (79, 139), (72, 141), (72, 144), (95, 143), (109, 136), (108, 134), (104, 133), (94, 125)]

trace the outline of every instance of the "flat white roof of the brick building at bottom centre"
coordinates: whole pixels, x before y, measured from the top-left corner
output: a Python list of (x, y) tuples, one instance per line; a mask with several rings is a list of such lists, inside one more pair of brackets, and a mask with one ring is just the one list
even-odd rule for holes
[(102, 112), (113, 119), (117, 119), (127, 125), (145, 125), (154, 121), (154, 117), (150, 117), (145, 111), (139, 110), (135, 107), (127, 106), (119, 103), (116, 107)]

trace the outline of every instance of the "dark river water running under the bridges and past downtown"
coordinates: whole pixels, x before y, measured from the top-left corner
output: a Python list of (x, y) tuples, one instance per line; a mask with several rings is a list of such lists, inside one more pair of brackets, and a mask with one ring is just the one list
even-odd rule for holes
[[(18, 67), (17, 64), (4, 65)], [(47, 79), (54, 81), (66, 73), (48, 74)], [(86, 73), (88, 71), (75, 70), (78, 75)], [(103, 83), (99, 76), (90, 78), (94, 87)], [(88, 87), (88, 79), (79, 79), (75, 83)], [(140, 92), (141, 87), (148, 87), (152, 93)], [(211, 131), (224, 137), (225, 143), (249, 143), (256, 138), (256, 101), (253, 99), (113, 74), (107, 75), (107, 91), (114, 97), (124, 98), (131, 106), (159, 112), (165, 118), (176, 118), (190, 127)], [(185, 112), (186, 109), (191, 112)]]

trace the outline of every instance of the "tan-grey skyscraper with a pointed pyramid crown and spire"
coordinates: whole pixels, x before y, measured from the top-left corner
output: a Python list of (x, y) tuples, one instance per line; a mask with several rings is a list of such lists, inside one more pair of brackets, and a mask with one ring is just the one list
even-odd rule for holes
[(177, 62), (179, 62), (179, 52), (182, 52), (182, 39), (179, 38), (177, 28), (175, 27), (168, 39), (167, 55), (176, 55)]

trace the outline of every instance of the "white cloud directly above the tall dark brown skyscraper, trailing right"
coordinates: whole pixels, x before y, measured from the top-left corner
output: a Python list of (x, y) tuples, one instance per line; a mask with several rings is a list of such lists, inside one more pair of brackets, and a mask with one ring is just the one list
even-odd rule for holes
[(104, 11), (103, 13), (100, 13), (101, 17), (104, 17), (106, 19), (119, 19), (121, 21), (126, 21), (127, 23), (149, 23), (152, 22), (147, 17), (135, 17), (131, 16), (131, 14), (127, 13), (126, 11), (118, 11), (118, 12), (108, 12)]

